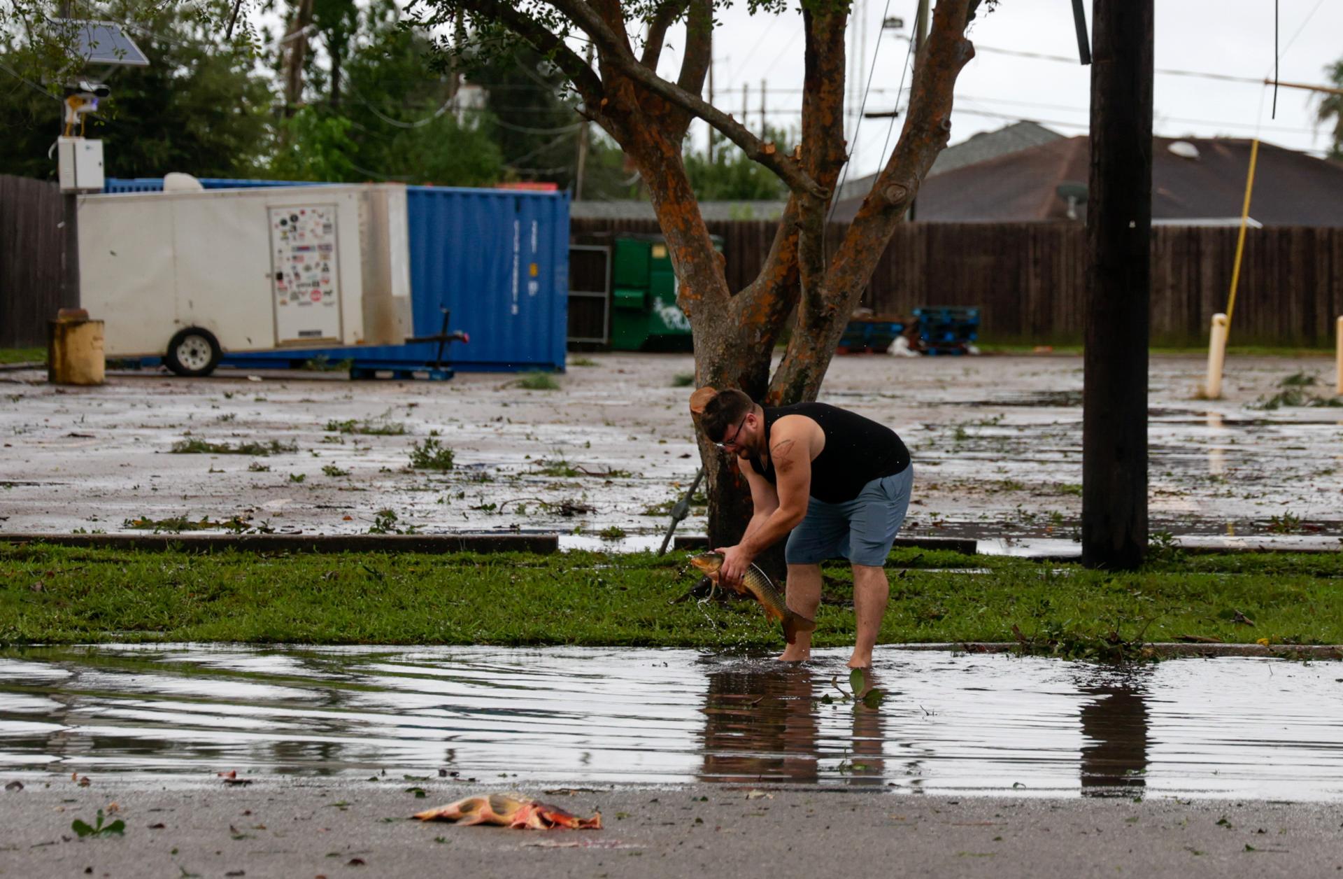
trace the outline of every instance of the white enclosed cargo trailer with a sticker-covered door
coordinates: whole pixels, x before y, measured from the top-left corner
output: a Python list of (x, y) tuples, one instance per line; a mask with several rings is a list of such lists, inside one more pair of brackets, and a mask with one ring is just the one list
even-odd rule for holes
[(109, 358), (158, 355), (179, 375), (224, 351), (414, 335), (402, 185), (82, 196), (79, 278)]

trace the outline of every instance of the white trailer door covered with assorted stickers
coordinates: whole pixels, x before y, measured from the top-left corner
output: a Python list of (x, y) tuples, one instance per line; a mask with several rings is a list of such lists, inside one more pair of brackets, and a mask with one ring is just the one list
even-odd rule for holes
[(275, 343), (340, 339), (336, 206), (271, 207), (269, 219)]

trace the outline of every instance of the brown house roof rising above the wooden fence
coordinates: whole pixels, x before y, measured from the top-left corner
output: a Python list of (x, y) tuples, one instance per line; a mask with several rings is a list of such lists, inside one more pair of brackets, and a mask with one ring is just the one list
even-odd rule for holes
[[(1187, 144), (1171, 151), (1171, 144)], [(1218, 222), (1240, 218), (1249, 168), (1249, 140), (1158, 137), (1152, 144), (1152, 219)], [(1180, 155), (1183, 153), (1183, 155)], [(919, 219), (932, 222), (1068, 220), (1064, 183), (1085, 184), (1086, 136), (1058, 140), (964, 165), (924, 181)], [(841, 203), (851, 219), (860, 199)], [(1077, 204), (1076, 219), (1085, 219)], [(1260, 142), (1250, 216), (1264, 226), (1343, 226), (1343, 168), (1305, 153)]]

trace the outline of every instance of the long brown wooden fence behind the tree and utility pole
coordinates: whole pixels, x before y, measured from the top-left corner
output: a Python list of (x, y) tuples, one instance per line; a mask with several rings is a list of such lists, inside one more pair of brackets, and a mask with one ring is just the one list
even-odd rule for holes
[[(776, 224), (710, 222), (723, 238), (728, 284), (756, 274)], [(575, 219), (577, 234), (655, 233), (653, 220)], [(827, 235), (834, 250), (845, 227)], [(1234, 227), (1152, 228), (1154, 344), (1201, 344), (1210, 317), (1226, 308), (1236, 257)], [(1072, 223), (905, 223), (896, 228), (862, 304), (908, 316), (920, 305), (978, 305), (982, 337), (1039, 344), (1085, 333), (1086, 231)], [(1233, 344), (1332, 345), (1343, 315), (1343, 228), (1252, 228), (1245, 239)]]

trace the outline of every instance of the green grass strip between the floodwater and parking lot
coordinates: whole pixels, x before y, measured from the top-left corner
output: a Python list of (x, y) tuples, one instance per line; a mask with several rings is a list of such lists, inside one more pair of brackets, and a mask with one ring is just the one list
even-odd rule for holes
[[(1014, 641), (1107, 657), (1180, 636), (1343, 642), (1343, 555), (1168, 556), (1135, 574), (892, 554), (884, 644)], [(853, 640), (851, 581), (826, 569), (818, 646)], [(575, 644), (778, 648), (748, 601), (672, 603), (685, 556), (188, 554), (0, 543), (0, 644)], [(1253, 622), (1253, 625), (1250, 624)], [(1015, 629), (1014, 629), (1015, 626)]]

